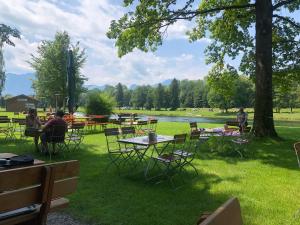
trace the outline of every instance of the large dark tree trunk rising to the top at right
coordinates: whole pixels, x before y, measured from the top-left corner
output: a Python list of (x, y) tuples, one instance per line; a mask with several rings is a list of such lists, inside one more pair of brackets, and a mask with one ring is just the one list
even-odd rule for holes
[(256, 1), (256, 92), (253, 132), (277, 136), (272, 99), (272, 1)]

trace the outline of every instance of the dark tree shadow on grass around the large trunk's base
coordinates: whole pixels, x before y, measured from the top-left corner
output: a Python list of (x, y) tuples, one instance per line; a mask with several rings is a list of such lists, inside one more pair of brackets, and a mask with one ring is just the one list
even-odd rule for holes
[[(239, 157), (239, 154), (228, 148), (230, 147), (230, 144), (228, 144), (231, 141), (230, 138), (226, 141), (228, 146), (227, 150), (225, 149), (224, 151), (210, 151), (211, 146), (220, 147), (222, 142), (218, 140), (214, 140), (215, 143), (211, 146), (207, 143), (202, 145), (199, 158), (204, 160), (222, 160), (229, 164), (257, 160), (275, 167), (299, 170), (293, 148), (293, 144), (300, 141), (300, 136), (297, 137), (299, 129), (287, 130), (286, 128), (280, 128), (278, 130), (280, 135), (278, 138), (254, 138), (251, 140), (249, 144), (242, 148), (244, 155), (242, 159)], [(231, 148), (234, 148), (234, 145), (231, 145)]]

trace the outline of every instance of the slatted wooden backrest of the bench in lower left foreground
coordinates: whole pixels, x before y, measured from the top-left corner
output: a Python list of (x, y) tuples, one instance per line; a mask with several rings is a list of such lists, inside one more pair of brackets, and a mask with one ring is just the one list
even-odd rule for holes
[(0, 171), (0, 214), (37, 204), (37, 224), (45, 224), (51, 200), (73, 193), (78, 175), (75, 160)]

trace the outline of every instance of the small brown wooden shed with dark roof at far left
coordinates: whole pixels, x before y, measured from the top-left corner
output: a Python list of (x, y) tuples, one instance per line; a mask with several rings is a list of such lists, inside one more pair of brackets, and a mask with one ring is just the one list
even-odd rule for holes
[(36, 108), (39, 101), (27, 95), (17, 95), (6, 99), (7, 112), (24, 112), (29, 108)]

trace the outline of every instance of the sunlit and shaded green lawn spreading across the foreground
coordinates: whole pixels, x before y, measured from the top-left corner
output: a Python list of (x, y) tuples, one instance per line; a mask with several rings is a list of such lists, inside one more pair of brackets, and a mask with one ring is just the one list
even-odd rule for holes
[[(218, 127), (221, 124), (201, 124)], [(70, 196), (67, 212), (87, 223), (101, 225), (194, 225), (202, 212), (213, 211), (237, 196), (245, 225), (299, 225), (300, 169), (293, 143), (300, 140), (300, 125), (277, 127), (282, 139), (254, 139), (248, 157), (224, 156), (202, 145), (194, 160), (199, 176), (174, 191), (167, 182), (148, 183), (138, 169), (124, 168), (121, 176), (110, 167), (103, 133), (88, 134), (80, 151), (59, 154), (54, 161), (78, 159), (80, 180)], [(189, 132), (187, 123), (159, 122), (157, 133)], [(0, 142), (0, 152), (33, 154), (32, 140)], [(142, 169), (142, 168), (140, 168)], [(178, 177), (192, 178), (189, 175)], [(298, 212), (297, 218), (295, 214)]]

